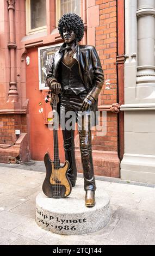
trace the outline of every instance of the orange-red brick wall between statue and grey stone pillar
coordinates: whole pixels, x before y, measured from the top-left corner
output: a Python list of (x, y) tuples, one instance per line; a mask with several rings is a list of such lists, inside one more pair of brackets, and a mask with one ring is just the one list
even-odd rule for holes
[[(96, 27), (96, 49), (99, 52), (105, 82), (101, 91), (101, 105), (117, 102), (117, 1), (96, 0), (100, 9), (100, 26)], [(107, 84), (109, 83), (109, 84)], [(97, 137), (93, 149), (117, 151), (117, 115), (107, 112), (107, 134)]]

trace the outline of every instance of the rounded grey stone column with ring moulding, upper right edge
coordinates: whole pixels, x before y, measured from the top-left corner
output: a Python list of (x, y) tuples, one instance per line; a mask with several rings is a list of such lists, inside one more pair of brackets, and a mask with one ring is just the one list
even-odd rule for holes
[[(155, 1), (138, 0), (137, 98), (155, 99)], [(153, 101), (154, 102), (154, 101)]]

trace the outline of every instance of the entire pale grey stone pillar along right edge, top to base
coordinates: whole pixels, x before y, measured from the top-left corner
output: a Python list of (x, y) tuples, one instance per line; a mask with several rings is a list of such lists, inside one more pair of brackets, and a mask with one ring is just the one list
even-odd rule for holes
[(155, 183), (155, 1), (126, 0), (125, 154), (121, 179)]

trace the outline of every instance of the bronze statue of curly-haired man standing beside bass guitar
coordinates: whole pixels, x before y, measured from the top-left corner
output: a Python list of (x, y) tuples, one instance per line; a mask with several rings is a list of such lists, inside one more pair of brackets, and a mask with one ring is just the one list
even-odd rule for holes
[[(100, 59), (94, 46), (79, 45), (84, 35), (82, 19), (76, 14), (64, 14), (59, 20), (59, 33), (64, 44), (53, 57), (46, 84), (58, 94), (60, 117), (65, 123), (67, 111), (76, 113), (80, 153), (84, 174), (85, 205), (95, 205), (95, 177), (92, 163), (90, 111), (97, 111), (98, 95), (101, 92), (104, 75)], [(84, 122), (78, 122), (80, 114)], [(65, 158), (70, 163), (69, 178), (74, 187), (77, 179), (75, 160), (74, 129), (63, 130)]]

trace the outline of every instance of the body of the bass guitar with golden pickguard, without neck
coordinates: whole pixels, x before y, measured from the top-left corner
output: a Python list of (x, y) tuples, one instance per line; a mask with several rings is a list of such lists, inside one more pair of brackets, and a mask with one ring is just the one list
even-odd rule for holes
[(58, 169), (55, 169), (49, 153), (46, 153), (44, 163), (46, 167), (46, 178), (42, 185), (44, 194), (50, 198), (65, 198), (69, 196), (72, 190), (71, 181), (67, 176), (69, 162), (65, 161), (63, 167), (59, 166)]

